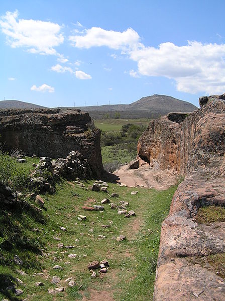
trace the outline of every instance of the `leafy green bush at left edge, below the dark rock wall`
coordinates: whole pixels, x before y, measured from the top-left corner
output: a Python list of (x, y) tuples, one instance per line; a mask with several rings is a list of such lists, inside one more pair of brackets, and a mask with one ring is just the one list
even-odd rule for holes
[(15, 191), (25, 190), (29, 181), (28, 173), (18, 168), (16, 160), (2, 151), (0, 151), (0, 181)]

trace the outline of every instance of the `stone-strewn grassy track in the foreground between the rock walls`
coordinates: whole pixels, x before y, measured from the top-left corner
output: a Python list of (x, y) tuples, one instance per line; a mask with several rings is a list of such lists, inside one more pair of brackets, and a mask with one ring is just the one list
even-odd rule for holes
[[(30, 161), (25, 164), (26, 168), (30, 164)], [(84, 184), (88, 186), (90, 183)], [(103, 291), (108, 294), (108, 300), (112, 296), (118, 301), (151, 300), (161, 224), (168, 214), (175, 189), (171, 187), (159, 192), (135, 188), (138, 194), (131, 195), (134, 188), (109, 183), (109, 194), (120, 194), (118, 198), (111, 198), (111, 202), (118, 204), (120, 200), (126, 200), (130, 202), (129, 210), (136, 212), (136, 217), (126, 219), (118, 215), (117, 210), (111, 210), (109, 205), (104, 205), (103, 212), (84, 211), (83, 206), (100, 204), (100, 200), (109, 195), (77, 188), (73, 183), (64, 181), (58, 185), (55, 195), (43, 196), (46, 222), (40, 223), (26, 212), (10, 216), (10, 227), (20, 233), (20, 241), (15, 239), (9, 249), (5, 247), (0, 252), (7, 262), (0, 266), (0, 299), (19, 300), (22, 296), (23, 299), (28, 297), (28, 300), (88, 300)], [(78, 215), (85, 215), (86, 220), (78, 221)], [(3, 223), (0, 220), (1, 227)], [(110, 227), (102, 228), (101, 225)], [(67, 231), (60, 230), (60, 226)], [(105, 238), (99, 239), (99, 234)], [(125, 235), (127, 240), (111, 240), (120, 234)], [(7, 238), (0, 239), (0, 246), (4, 239)], [(59, 249), (59, 242), (74, 247)], [(42, 253), (39, 248), (43, 249)], [(77, 254), (77, 257), (69, 258), (70, 253)], [(23, 260), (23, 265), (14, 263), (15, 255)], [(91, 278), (88, 263), (102, 259), (109, 261), (108, 272)], [(70, 263), (66, 264), (67, 261)], [(53, 270), (54, 265), (62, 266), (62, 270)], [(21, 275), (16, 269), (22, 269), (26, 274)], [(43, 272), (44, 276), (33, 276), (36, 272)], [(54, 275), (61, 278), (58, 285), (51, 283)], [(77, 283), (73, 288), (65, 282), (69, 277)], [(17, 285), (24, 291), (19, 297), (5, 289), (5, 280), (16, 283), (16, 278), (23, 281)], [(37, 287), (37, 281), (43, 282), (44, 286)], [(65, 291), (54, 295), (48, 293), (48, 288), (58, 286), (64, 287)]]

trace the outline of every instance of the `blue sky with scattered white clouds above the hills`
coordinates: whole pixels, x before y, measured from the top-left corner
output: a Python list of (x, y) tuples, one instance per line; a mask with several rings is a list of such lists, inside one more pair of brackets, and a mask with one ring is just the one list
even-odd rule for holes
[(198, 105), (225, 93), (224, 0), (1, 0), (0, 100)]

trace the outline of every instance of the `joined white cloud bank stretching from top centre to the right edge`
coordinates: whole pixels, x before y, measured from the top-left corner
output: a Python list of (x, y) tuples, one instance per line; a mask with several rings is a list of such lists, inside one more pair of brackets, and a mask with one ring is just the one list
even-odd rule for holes
[[(197, 41), (177, 46), (171, 42), (147, 47), (132, 28), (124, 32), (92, 27), (69, 40), (77, 48), (106, 46), (120, 50), (137, 62), (133, 77), (163, 76), (175, 80), (178, 91), (208, 94), (225, 92), (225, 44), (202, 44)], [(117, 58), (116, 54), (110, 55)]]

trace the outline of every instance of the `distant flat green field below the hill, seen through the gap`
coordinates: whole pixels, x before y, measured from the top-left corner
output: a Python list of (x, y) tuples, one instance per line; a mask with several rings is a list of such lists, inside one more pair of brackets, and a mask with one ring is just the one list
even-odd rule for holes
[(128, 123), (135, 125), (145, 125), (148, 126), (150, 122), (149, 118), (140, 118), (140, 119), (106, 119), (106, 120), (95, 120), (95, 126), (103, 132), (109, 131), (121, 131), (122, 126)]

